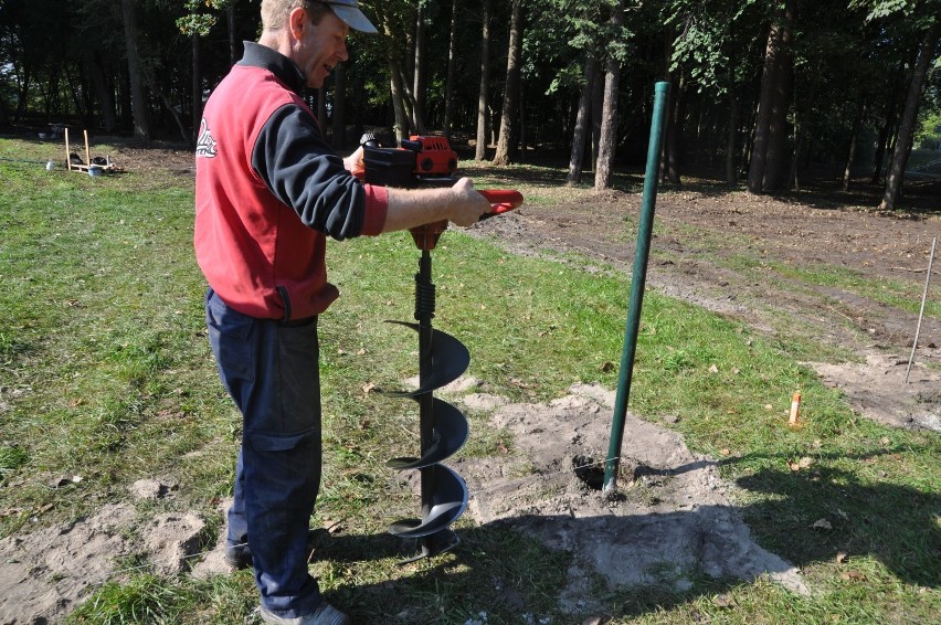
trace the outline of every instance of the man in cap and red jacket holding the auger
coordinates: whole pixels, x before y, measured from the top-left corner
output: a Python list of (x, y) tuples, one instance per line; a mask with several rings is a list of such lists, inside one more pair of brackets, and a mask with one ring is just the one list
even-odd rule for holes
[(348, 59), (350, 28), (376, 32), (356, 0), (263, 0), (262, 35), (209, 98), (197, 147), (194, 245), (220, 378), (243, 416), (226, 560), (254, 566), (267, 623), (349, 618), (321, 601), (306, 539), (320, 483), (317, 316), (339, 295), (326, 236), (377, 235), (489, 203), (447, 189), (361, 184), (362, 151), (335, 156), (298, 93)]

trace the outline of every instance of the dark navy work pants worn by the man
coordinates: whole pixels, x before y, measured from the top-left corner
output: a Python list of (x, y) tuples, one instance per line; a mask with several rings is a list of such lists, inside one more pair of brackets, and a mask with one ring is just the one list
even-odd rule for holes
[(212, 288), (205, 316), (219, 375), (243, 424), (226, 543), (247, 542), (266, 610), (309, 614), (320, 604), (306, 550), (320, 486), (317, 318), (256, 319)]

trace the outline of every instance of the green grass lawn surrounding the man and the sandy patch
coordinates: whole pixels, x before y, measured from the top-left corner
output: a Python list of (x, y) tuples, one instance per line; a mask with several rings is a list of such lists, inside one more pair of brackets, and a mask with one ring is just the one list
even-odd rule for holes
[[(42, 158), (34, 145), (0, 139), (8, 155)], [(179, 490), (158, 506), (202, 515), (211, 548), (240, 419), (205, 338), (192, 179), (92, 178), (0, 161), (0, 538), (78, 519), (126, 500), (139, 478), (171, 476)], [(540, 197), (522, 180), (503, 186)], [(410, 444), (402, 424), (413, 406), (363, 388), (415, 374), (414, 335), (384, 320), (412, 318), (416, 258), (406, 234), (328, 250), (343, 295), (320, 321), (325, 479), (313, 527), (342, 519), (345, 533), (323, 545), (313, 571), (358, 622), (464, 624), (482, 612), (486, 623), (580, 622), (558, 605), (567, 554), (527, 537), (465, 518), (456, 552), (400, 566), (406, 551), (390, 547), (389, 519), (414, 501), (384, 462)], [(578, 381), (616, 386), (626, 277), (514, 256), (459, 232), (444, 235), (434, 262), (436, 327), (467, 345), (468, 373), (491, 392), (543, 402)], [(722, 470), (740, 487), (746, 521), (760, 544), (801, 566), (813, 593), (700, 579), (684, 593), (613, 593), (612, 622), (937, 622), (941, 436), (854, 415), (799, 352), (647, 294), (632, 410), (652, 420), (681, 414), (675, 427), (692, 449), (732, 452)], [(719, 374), (716, 362), (725, 363)], [(778, 415), (795, 389), (807, 426), (792, 431)], [(462, 453), (507, 446), (506, 433), (476, 423)], [(811, 466), (792, 470), (800, 458)], [(82, 481), (50, 488), (57, 476)], [(141, 516), (152, 513), (147, 506)], [(808, 518), (832, 527), (808, 527)], [(250, 572), (199, 581), (119, 571), (72, 622), (243, 623), (256, 604)], [(505, 601), (509, 592), (524, 613)]]

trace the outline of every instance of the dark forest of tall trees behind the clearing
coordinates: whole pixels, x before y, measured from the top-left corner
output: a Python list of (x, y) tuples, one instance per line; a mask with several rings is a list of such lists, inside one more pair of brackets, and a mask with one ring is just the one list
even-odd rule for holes
[[(379, 27), (309, 94), (337, 149), (442, 131), (477, 160), (569, 159), (570, 183), (646, 153), (662, 172), (800, 189), (821, 167), (903, 201), (941, 148), (941, 0), (363, 0)], [(193, 146), (202, 105), (257, 39), (253, 0), (0, 0), (0, 128), (66, 125)], [(46, 128), (49, 126), (50, 128)]]

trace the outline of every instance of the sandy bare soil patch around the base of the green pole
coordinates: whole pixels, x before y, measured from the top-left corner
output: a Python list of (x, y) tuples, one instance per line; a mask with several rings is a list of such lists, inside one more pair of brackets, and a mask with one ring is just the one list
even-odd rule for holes
[(594, 580), (611, 589), (691, 586), (690, 575), (752, 580), (766, 574), (806, 593), (800, 572), (759, 547), (728, 498), (717, 464), (675, 432), (626, 415), (616, 495), (601, 490), (614, 392), (578, 384), (548, 405), (508, 404), (490, 424), (514, 434), (507, 458), (455, 463), (480, 523), (505, 523), (573, 554), (560, 601), (571, 613), (600, 608)]

